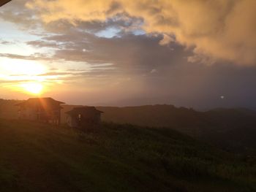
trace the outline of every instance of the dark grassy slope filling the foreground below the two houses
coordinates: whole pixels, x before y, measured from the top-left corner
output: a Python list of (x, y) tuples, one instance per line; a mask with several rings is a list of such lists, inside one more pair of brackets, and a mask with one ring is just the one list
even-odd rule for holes
[(0, 120), (0, 191), (256, 191), (256, 166), (170, 129)]

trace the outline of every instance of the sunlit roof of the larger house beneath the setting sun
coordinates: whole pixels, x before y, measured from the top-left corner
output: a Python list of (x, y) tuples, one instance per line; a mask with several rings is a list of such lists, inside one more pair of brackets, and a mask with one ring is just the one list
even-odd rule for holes
[(53, 106), (55, 104), (64, 104), (64, 102), (56, 101), (55, 99), (52, 99), (50, 97), (45, 97), (45, 98), (30, 98), (26, 101), (20, 102), (15, 105), (22, 106), (22, 105), (35, 105), (35, 104), (40, 104), (42, 106)]

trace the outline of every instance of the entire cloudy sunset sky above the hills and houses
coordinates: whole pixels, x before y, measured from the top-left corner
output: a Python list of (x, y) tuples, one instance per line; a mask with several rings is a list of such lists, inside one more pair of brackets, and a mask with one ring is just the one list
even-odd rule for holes
[(12, 0), (0, 98), (256, 109), (255, 0)]

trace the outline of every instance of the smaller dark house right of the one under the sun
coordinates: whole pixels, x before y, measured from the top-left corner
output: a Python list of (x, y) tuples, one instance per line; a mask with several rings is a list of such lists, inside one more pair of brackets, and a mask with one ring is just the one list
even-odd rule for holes
[(86, 128), (100, 123), (102, 112), (95, 107), (75, 107), (66, 112), (67, 124), (70, 127)]

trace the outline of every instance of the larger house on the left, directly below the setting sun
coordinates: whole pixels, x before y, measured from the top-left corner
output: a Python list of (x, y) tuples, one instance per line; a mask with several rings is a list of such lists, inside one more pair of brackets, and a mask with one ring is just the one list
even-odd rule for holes
[(30, 98), (16, 106), (18, 117), (23, 120), (35, 120), (44, 123), (59, 125), (61, 123), (61, 104), (52, 98)]

